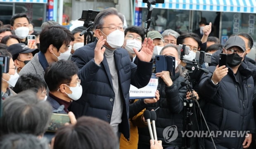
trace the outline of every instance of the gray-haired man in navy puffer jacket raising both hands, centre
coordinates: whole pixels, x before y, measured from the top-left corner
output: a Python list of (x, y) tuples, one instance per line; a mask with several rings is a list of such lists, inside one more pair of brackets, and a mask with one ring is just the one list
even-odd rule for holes
[(71, 111), (100, 118), (110, 123), (116, 134), (130, 137), (129, 89), (148, 84), (152, 72), (153, 41), (145, 38), (138, 52), (137, 66), (130, 61), (124, 42), (123, 15), (115, 8), (97, 14), (94, 21), (95, 42), (75, 51), (72, 59), (78, 66), (83, 94), (73, 101)]

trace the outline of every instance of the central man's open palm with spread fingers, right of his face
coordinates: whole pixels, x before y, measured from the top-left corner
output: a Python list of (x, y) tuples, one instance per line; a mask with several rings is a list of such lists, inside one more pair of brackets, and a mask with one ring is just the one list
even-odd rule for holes
[(133, 48), (133, 51), (135, 52), (137, 57), (143, 62), (150, 62), (150, 60), (152, 59), (153, 50), (153, 40), (151, 40), (150, 38), (145, 38), (140, 52)]

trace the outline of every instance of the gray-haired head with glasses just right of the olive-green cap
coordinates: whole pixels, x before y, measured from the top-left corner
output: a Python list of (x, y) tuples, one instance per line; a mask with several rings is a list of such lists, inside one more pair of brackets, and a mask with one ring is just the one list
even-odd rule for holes
[(180, 36), (180, 34), (174, 30), (168, 29), (164, 30), (162, 33), (162, 37), (164, 38), (164, 46), (166, 44), (174, 44), (177, 43), (177, 38)]

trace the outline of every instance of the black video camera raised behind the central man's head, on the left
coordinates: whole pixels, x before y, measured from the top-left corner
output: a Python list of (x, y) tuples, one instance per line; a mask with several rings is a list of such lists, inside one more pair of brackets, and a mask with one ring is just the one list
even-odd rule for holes
[(83, 10), (81, 18), (78, 19), (79, 21), (84, 21), (83, 26), (87, 28), (80, 34), (80, 36), (83, 36), (83, 34), (85, 34), (84, 45), (90, 44), (91, 42), (93, 42), (92, 28), (93, 28), (94, 20), (99, 12), (100, 11), (93, 11), (91, 9)]

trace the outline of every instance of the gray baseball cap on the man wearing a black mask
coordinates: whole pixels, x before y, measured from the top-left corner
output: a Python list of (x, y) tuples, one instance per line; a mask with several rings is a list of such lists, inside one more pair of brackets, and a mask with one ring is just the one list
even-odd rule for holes
[(239, 36), (232, 36), (230, 37), (225, 44), (225, 48), (230, 48), (232, 46), (238, 46), (243, 51), (245, 51), (245, 43), (244, 40)]

